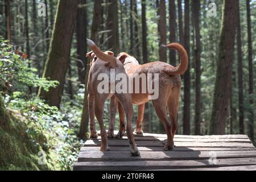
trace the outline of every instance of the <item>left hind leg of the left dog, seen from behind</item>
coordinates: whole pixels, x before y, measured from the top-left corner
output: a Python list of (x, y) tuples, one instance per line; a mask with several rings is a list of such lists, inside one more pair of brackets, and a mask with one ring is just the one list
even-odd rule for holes
[(100, 96), (94, 97), (94, 111), (101, 128), (101, 151), (108, 151), (108, 138), (103, 119), (104, 103), (105, 100), (102, 99)]

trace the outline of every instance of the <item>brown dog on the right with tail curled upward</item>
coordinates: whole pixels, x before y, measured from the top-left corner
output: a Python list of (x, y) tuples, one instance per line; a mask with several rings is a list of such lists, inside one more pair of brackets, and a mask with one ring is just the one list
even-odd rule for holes
[[(167, 143), (164, 146), (164, 150), (171, 150), (174, 147), (174, 135), (177, 130), (177, 111), (179, 107), (179, 97), (181, 89), (181, 78), (188, 67), (188, 55), (183, 46), (177, 43), (168, 44), (166, 47), (175, 49), (180, 55), (180, 64), (177, 67), (163, 62), (152, 62), (140, 65), (138, 61), (128, 55), (125, 52), (119, 53), (117, 59), (119, 59), (124, 67), (129, 78), (134, 78), (134, 73), (154, 74), (159, 73), (159, 97), (152, 100), (155, 107), (156, 114), (160, 121), (163, 123), (167, 134)], [(144, 114), (144, 104), (150, 99), (150, 94), (135, 93), (131, 94), (132, 102), (134, 105), (138, 105), (138, 118), (137, 118), (137, 133), (142, 133), (142, 121)], [(170, 120), (167, 117), (166, 107), (170, 115)], [(125, 133), (125, 114), (121, 105), (118, 104), (120, 129), (117, 137), (122, 137)]]

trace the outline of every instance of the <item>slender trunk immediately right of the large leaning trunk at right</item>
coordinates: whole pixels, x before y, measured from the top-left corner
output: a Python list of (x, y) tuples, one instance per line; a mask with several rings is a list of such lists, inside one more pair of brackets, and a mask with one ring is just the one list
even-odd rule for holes
[(239, 133), (244, 133), (243, 125), (243, 64), (242, 64), (242, 42), (241, 42), (241, 22), (240, 5), (237, 3), (237, 72), (238, 72), (238, 105), (239, 105)]

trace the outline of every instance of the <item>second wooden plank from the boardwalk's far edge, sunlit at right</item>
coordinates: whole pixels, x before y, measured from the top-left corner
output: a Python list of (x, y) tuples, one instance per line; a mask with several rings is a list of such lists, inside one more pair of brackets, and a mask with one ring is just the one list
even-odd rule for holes
[[(101, 139), (98, 137), (97, 139)], [(162, 137), (135, 137), (135, 141), (164, 141), (167, 138)], [(127, 137), (115, 139), (109, 138), (109, 140), (127, 140)], [(174, 142), (242, 142), (242, 143), (251, 143), (249, 138), (174, 138)]]

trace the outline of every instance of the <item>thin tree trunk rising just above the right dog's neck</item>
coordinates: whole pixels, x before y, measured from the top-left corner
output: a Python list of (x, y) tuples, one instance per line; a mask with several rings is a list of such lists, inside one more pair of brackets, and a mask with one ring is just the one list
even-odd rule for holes
[(136, 49), (136, 56), (138, 60), (141, 60), (141, 52), (139, 50), (139, 28), (138, 28), (138, 9), (137, 9), (137, 0), (134, 0), (134, 35), (135, 35), (135, 49)]

